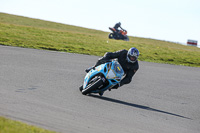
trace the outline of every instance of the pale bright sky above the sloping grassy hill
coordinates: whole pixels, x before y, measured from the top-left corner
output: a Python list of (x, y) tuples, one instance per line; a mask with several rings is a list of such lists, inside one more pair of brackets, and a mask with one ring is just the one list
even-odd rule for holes
[(0, 0), (0, 12), (102, 31), (200, 45), (200, 0)]

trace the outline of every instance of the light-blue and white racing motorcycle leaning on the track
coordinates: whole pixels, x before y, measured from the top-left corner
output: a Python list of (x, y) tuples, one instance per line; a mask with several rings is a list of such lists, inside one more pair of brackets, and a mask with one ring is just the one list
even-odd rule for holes
[(112, 60), (91, 69), (79, 88), (83, 95), (98, 93), (100, 96), (106, 90), (120, 83), (124, 70), (117, 60)]

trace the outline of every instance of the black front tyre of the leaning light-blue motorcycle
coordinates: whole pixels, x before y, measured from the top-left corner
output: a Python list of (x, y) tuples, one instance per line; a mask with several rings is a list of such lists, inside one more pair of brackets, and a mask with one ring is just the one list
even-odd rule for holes
[(82, 90), (83, 95), (91, 93), (93, 90), (96, 90), (99, 86), (103, 84), (101, 78), (98, 78), (95, 82), (90, 83), (85, 89)]

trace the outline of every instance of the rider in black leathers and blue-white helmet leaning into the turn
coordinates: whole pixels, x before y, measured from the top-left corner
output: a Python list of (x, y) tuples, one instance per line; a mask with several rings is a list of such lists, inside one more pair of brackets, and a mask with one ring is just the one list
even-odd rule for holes
[[(129, 84), (132, 81), (133, 75), (139, 69), (139, 64), (137, 60), (138, 56), (139, 56), (139, 51), (134, 47), (130, 48), (128, 51), (124, 49), (113, 53), (107, 52), (102, 58), (100, 58), (97, 61), (94, 67), (106, 63), (111, 59), (118, 59), (118, 62), (120, 63), (120, 65), (124, 70), (125, 77), (121, 80), (120, 84), (117, 84), (112, 88), (112, 89), (117, 89), (118, 87), (124, 84)], [(86, 72), (89, 72), (94, 67), (86, 69)]]

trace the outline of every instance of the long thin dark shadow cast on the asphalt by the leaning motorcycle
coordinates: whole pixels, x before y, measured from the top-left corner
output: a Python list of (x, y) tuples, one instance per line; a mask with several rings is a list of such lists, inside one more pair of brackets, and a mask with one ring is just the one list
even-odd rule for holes
[(181, 117), (181, 118), (192, 120), (191, 118), (188, 118), (188, 117), (185, 117), (185, 116), (181, 116), (181, 115), (178, 115), (178, 114), (174, 114), (174, 113), (170, 113), (170, 112), (154, 109), (154, 108), (151, 108), (151, 107), (148, 107), (148, 106), (128, 103), (128, 102), (125, 102), (125, 101), (121, 101), (121, 100), (117, 100), (117, 99), (113, 99), (113, 98), (108, 98), (108, 97), (101, 97), (101, 96), (93, 95), (93, 94), (90, 94), (89, 96), (93, 97), (93, 98), (98, 98), (98, 99), (101, 99), (101, 100), (109, 101), (109, 102), (119, 103), (119, 104), (131, 106), (131, 107), (135, 107), (135, 108), (140, 108), (140, 109), (144, 109), (144, 110), (160, 112), (160, 113), (164, 113), (164, 114), (173, 115), (173, 116), (177, 116), (177, 117)]

